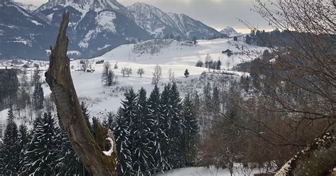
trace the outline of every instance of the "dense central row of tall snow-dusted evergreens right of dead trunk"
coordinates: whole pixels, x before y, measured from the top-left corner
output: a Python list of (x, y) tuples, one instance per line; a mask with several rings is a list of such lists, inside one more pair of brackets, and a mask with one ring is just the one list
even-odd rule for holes
[(181, 101), (176, 84), (162, 93), (155, 85), (147, 99), (145, 89), (125, 93), (116, 119), (109, 118), (117, 146), (119, 175), (150, 175), (196, 163), (198, 123), (188, 94)]

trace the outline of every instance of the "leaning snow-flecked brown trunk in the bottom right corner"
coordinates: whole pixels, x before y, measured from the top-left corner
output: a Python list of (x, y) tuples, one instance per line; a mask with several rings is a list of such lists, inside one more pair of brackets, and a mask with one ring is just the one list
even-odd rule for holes
[(335, 125), (289, 160), (276, 176), (327, 175), (336, 164)]

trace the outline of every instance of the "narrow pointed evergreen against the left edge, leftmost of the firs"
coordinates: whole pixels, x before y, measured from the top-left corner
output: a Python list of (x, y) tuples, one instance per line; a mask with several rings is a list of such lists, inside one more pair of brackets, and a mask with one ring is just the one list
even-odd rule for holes
[(19, 140), (18, 140), (18, 126), (14, 121), (13, 109), (10, 106), (7, 125), (4, 133), (3, 143), (1, 145), (1, 175), (12, 175), (18, 172), (19, 163)]

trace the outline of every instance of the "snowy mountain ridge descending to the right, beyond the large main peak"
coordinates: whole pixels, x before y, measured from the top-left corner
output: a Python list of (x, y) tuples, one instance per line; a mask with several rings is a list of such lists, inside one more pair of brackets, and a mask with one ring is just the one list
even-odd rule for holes
[(128, 6), (128, 11), (132, 13), (135, 22), (155, 38), (162, 38), (171, 34), (181, 38), (220, 36), (220, 33), (215, 29), (183, 13), (165, 13), (155, 6), (145, 3), (135, 3)]

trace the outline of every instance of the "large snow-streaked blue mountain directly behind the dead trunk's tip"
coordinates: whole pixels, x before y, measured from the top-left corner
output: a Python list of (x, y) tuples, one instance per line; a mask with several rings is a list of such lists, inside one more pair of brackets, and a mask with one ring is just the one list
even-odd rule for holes
[(34, 13), (56, 28), (65, 10), (71, 14), (68, 35), (72, 50), (81, 57), (101, 55), (128, 40), (150, 38), (115, 0), (49, 0)]

